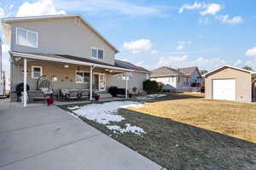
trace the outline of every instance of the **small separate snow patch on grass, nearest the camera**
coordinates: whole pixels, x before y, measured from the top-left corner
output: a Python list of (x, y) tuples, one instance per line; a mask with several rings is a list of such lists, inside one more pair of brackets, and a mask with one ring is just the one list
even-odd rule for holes
[(108, 129), (113, 130), (113, 133), (135, 133), (137, 135), (141, 135), (142, 133), (145, 133), (143, 128), (137, 127), (137, 126), (131, 126), (130, 123), (125, 123), (125, 128), (121, 128), (119, 126), (113, 125), (113, 126), (107, 126)]

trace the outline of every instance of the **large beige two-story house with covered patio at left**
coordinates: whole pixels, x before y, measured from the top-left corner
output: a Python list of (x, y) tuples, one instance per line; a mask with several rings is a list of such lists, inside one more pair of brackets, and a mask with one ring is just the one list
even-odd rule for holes
[(111, 86), (143, 90), (143, 81), (149, 77), (148, 70), (116, 60), (118, 49), (79, 14), (4, 18), (2, 22), (10, 43), (11, 91), (20, 82), (36, 89), (43, 75), (53, 82), (55, 91), (95, 88), (100, 93), (107, 93)]

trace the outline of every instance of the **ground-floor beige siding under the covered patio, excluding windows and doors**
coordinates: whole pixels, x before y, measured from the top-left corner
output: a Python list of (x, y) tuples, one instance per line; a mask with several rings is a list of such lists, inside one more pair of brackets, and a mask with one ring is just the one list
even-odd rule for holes
[[(83, 65), (68, 65), (68, 68), (64, 68), (64, 63), (57, 63), (43, 60), (30, 60), (27, 61), (27, 84), (31, 89), (37, 88), (37, 79), (32, 78), (32, 66), (41, 66), (43, 68), (43, 75), (49, 81), (53, 76), (57, 77), (57, 82), (53, 82), (55, 90), (58, 89), (89, 89), (89, 83), (77, 83), (76, 71), (88, 71), (90, 68)], [(15, 91), (15, 87), (18, 83), (23, 82), (23, 59), (16, 61), (11, 65), (12, 82), (11, 90)], [(95, 68), (94, 73), (104, 73), (106, 75), (106, 90), (111, 86), (117, 86), (118, 88), (125, 88), (125, 80), (120, 79), (117, 75), (110, 75), (108, 71), (104, 69)], [(146, 73), (133, 72), (131, 80), (128, 82), (129, 91), (132, 92), (132, 88), (143, 90), (143, 82), (146, 80)]]

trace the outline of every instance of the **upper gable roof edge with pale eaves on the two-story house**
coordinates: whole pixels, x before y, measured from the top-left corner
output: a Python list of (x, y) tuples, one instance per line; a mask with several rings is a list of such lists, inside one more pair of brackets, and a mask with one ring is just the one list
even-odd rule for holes
[[(9, 24), (9, 23), (12, 23), (12, 22), (20, 22), (20, 21), (26, 21), (26, 20), (50, 20), (50, 19), (65, 19), (65, 18), (73, 18), (73, 17), (79, 17), (79, 19), (81, 19), (86, 26), (89, 26), (89, 28), (92, 31), (94, 31), (97, 36), (102, 38), (102, 40), (104, 42), (108, 43), (108, 45), (111, 48), (113, 48), (115, 53), (119, 53), (119, 50), (117, 48), (115, 48), (110, 42), (108, 42), (108, 40), (105, 37), (103, 37), (101, 33), (96, 31), (96, 29), (93, 26), (91, 26), (89, 24), (89, 22), (87, 20), (85, 20), (82, 17), (82, 15), (80, 15), (80, 14), (55, 14), (55, 15), (42, 15), (42, 16), (7, 17), (7, 18), (2, 19), (2, 23), (3, 24)], [(8, 35), (9, 34), (8, 31), (7, 31), (8, 28), (6, 26), (3, 26), (3, 29), (4, 29), (5, 36)], [(8, 37), (8, 36), (6, 36), (6, 37)]]

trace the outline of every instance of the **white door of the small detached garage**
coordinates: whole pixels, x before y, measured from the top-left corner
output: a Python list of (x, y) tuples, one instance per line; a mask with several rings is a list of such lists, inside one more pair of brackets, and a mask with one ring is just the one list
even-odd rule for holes
[(222, 79), (212, 81), (212, 99), (236, 100), (236, 80)]

